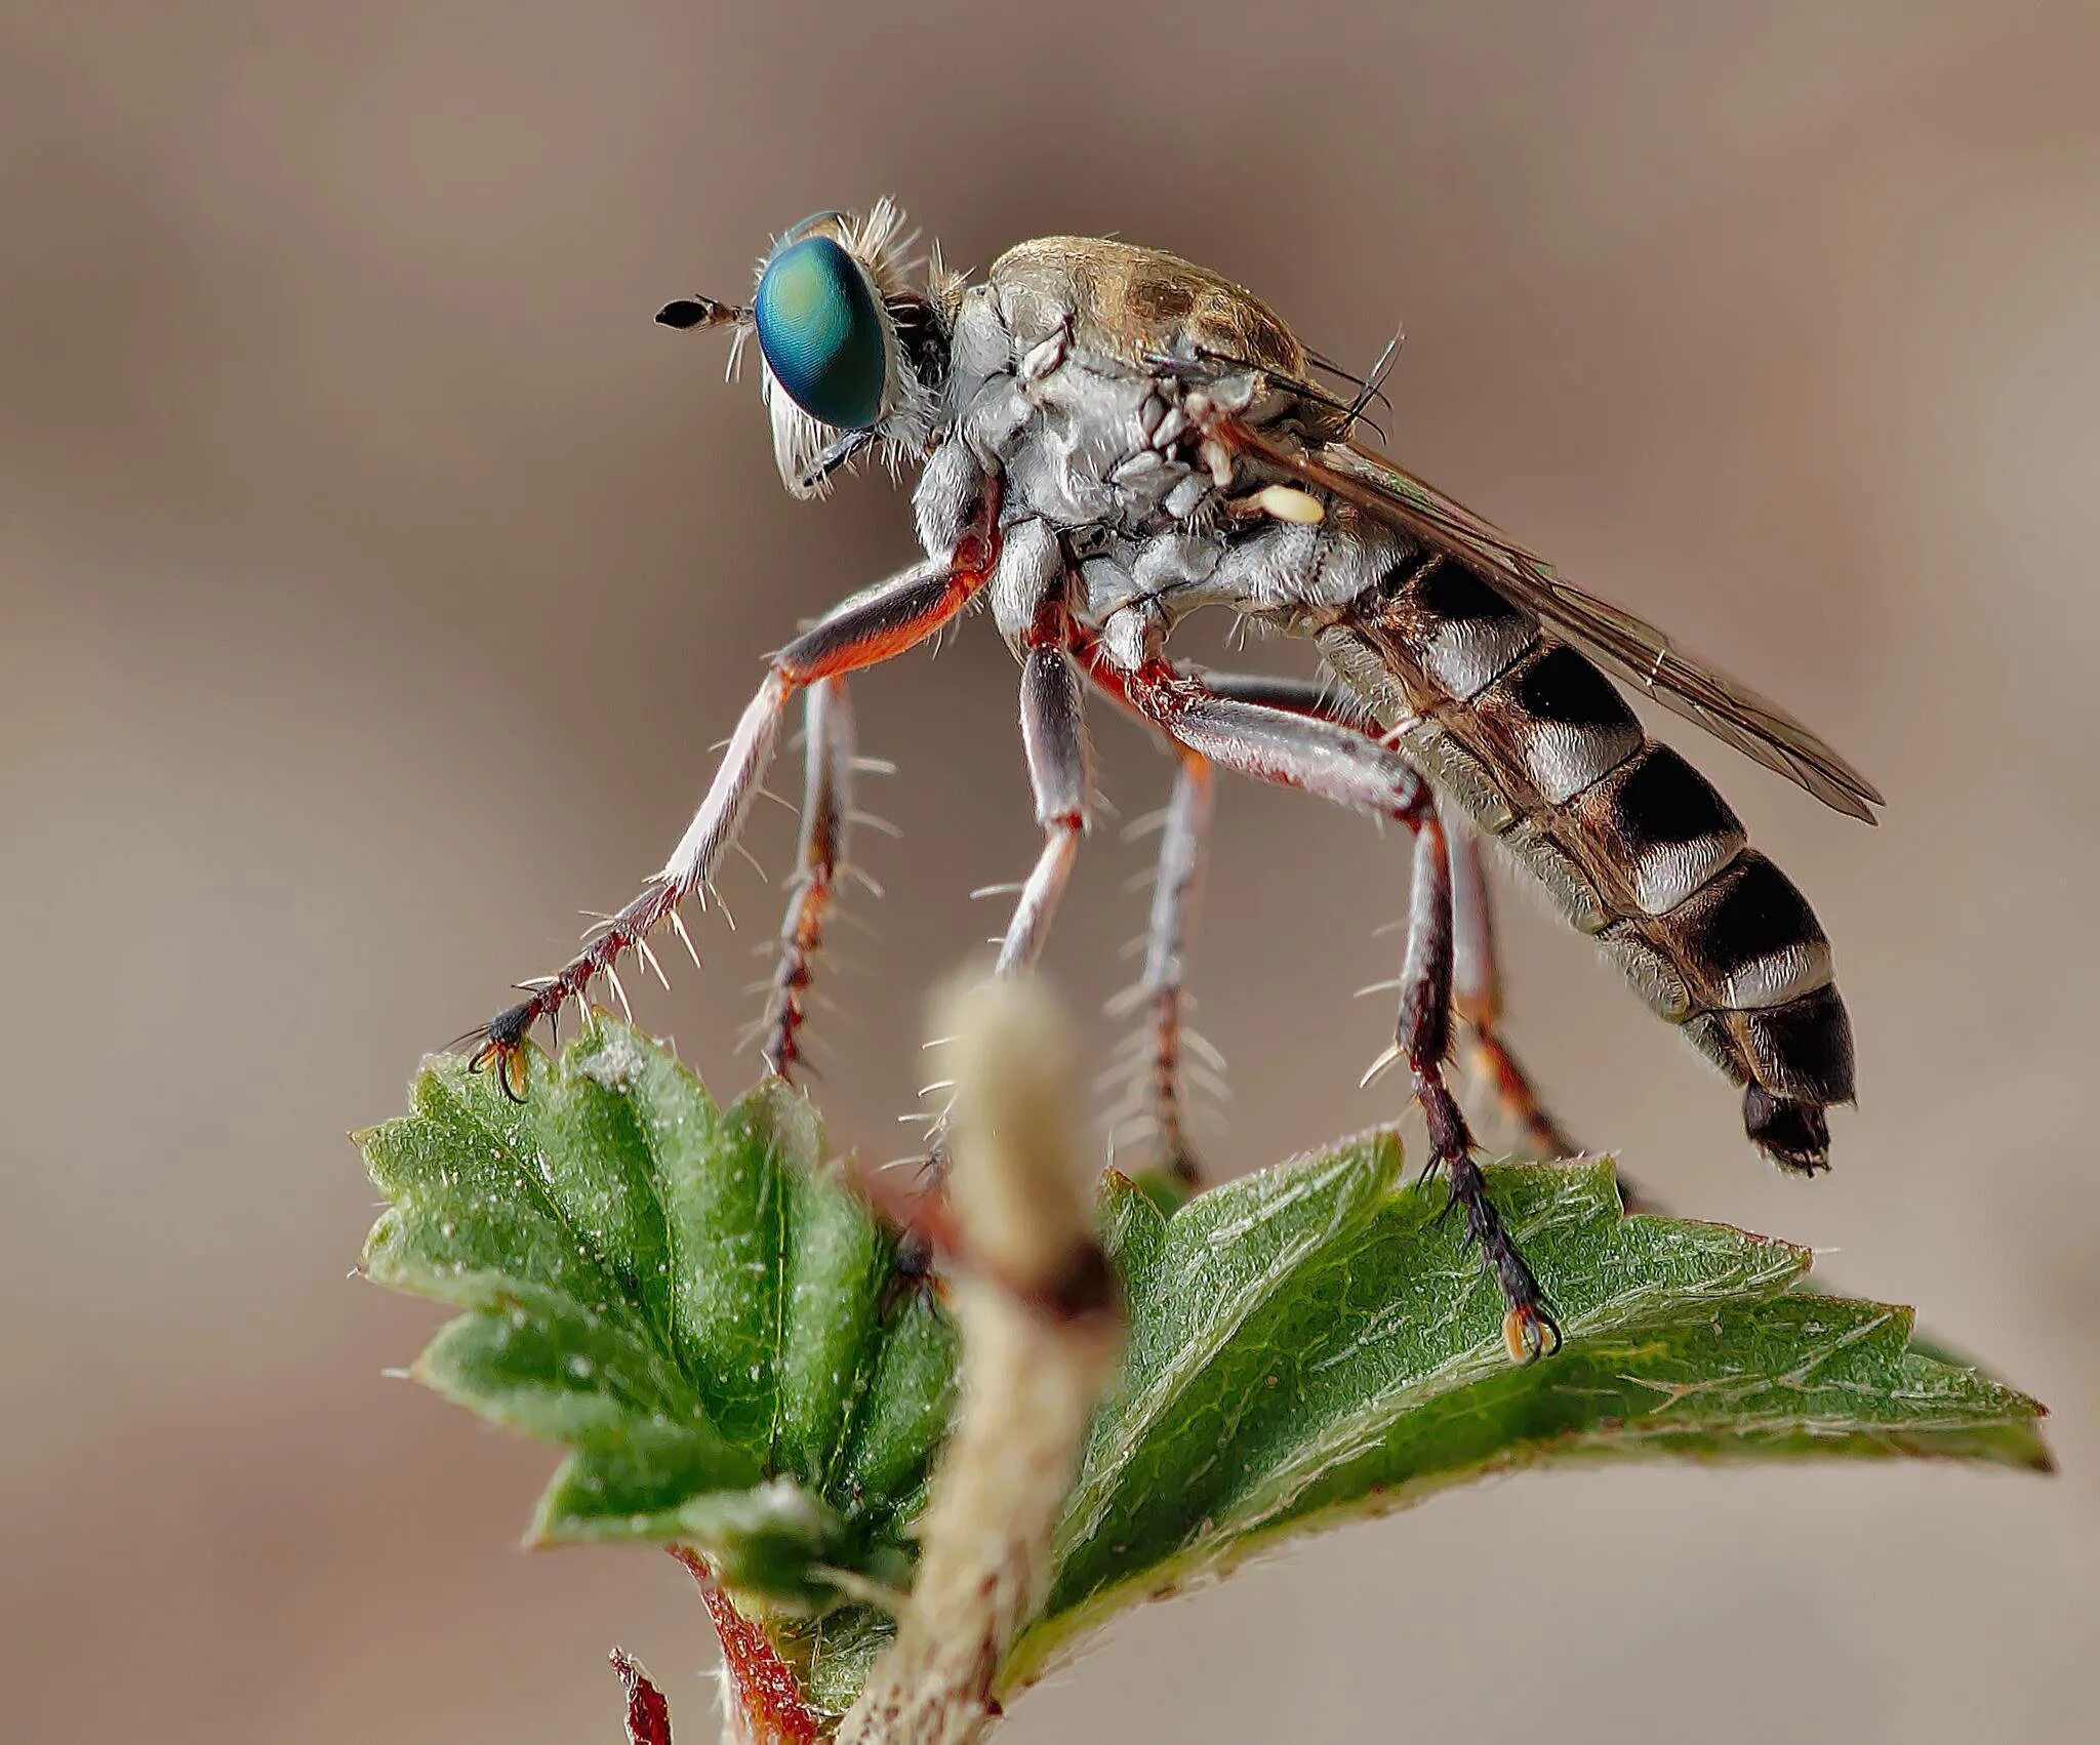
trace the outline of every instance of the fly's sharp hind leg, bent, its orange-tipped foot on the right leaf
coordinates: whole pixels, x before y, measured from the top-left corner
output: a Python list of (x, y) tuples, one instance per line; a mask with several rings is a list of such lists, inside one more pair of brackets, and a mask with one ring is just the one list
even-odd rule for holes
[[(1403, 823), (1415, 838), (1415, 884), (1409, 905), (1401, 1012), (1388, 1060), (1403, 1060), (1430, 1134), (1430, 1165), (1451, 1182), (1451, 1205), (1468, 1239), (1502, 1287), (1508, 1312), (1502, 1336), (1510, 1357), (1529, 1363), (1560, 1346), (1537, 1277), (1525, 1262), (1474, 1161), (1472, 1130), (1445, 1084), (1451, 1050), (1451, 855), (1430, 785), (1413, 764), (1354, 727), (1292, 714), (1222, 695), (1199, 676), (1151, 657), (1117, 670), (1092, 651), (1092, 672), (1119, 689), (1132, 708), (1176, 743), (1210, 762), (1302, 787), (1352, 811)], [(1384, 1060), (1380, 1063), (1384, 1065)], [(1373, 1069), (1376, 1071), (1376, 1069)]]

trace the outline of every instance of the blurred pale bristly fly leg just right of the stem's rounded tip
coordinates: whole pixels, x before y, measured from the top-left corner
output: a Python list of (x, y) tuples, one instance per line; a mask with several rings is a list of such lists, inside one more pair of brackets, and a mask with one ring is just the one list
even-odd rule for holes
[[(1178, 752), (1174, 794), (1159, 819), (1159, 867), (1153, 880), (1153, 907), (1144, 924), (1144, 972), (1109, 1002), (1111, 1014), (1144, 1012), (1144, 1060), (1140, 1084), (1126, 1105), (1138, 1119), (1151, 1123), (1153, 1157), (1184, 1189), (1201, 1182), (1195, 1149), (1189, 1142), (1184, 1107), (1184, 1054), (1195, 1048), (1210, 1054), (1212, 1071), (1222, 1071), (1222, 1058), (1186, 1027), (1189, 924), (1195, 916), (1195, 892), (1203, 871), (1203, 844), (1210, 836), (1210, 764), (1193, 752)], [(1115, 1123), (1117, 1128), (1124, 1121)]]

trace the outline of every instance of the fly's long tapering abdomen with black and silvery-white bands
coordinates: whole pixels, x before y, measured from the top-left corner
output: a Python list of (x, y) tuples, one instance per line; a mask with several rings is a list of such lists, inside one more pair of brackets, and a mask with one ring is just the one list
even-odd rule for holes
[(1735, 1084), (1791, 1170), (1829, 1163), (1852, 1025), (1808, 899), (1617, 687), (1457, 559), (1413, 554), (1319, 634), (1327, 664)]

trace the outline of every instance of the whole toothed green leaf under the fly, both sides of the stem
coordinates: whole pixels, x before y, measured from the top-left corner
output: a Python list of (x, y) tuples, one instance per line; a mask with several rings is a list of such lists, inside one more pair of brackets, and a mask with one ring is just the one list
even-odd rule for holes
[[(416, 1378), (567, 1449), (536, 1541), (697, 1546), (804, 1697), (840, 1714), (890, 1636), (947, 1432), (956, 1336), (817, 1117), (716, 1109), (609, 1018), (529, 1100), (426, 1063), (361, 1136), (384, 1285), (464, 1310)], [(1115, 1611), (1466, 1478), (1598, 1459), (1942, 1455), (2045, 1468), (2037, 1407), (1911, 1310), (1810, 1294), (1806, 1249), (1625, 1216), (1611, 1163), (1487, 1172), (1560, 1317), (1529, 1369), (1441, 1184), (1386, 1134), (1186, 1203), (1109, 1176), (1128, 1350), (1088, 1434), (1016, 1690)]]

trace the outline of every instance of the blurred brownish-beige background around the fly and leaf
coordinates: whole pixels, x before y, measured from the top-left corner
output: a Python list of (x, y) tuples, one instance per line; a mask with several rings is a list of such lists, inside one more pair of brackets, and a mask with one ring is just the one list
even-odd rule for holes
[[(2039, 1739), (2092, 1718), (2100, 107), (2092, 8), (0, 6), (0, 1730), (617, 1737), (613, 1640), (710, 1737), (640, 1552), (512, 1550), (552, 1457), (382, 1380), (342, 1134), (682, 827), (758, 657), (909, 552), (773, 479), (649, 323), (895, 191), (958, 262), (1119, 231), (1317, 344), (1396, 315), (1392, 441), (1825, 729), (1867, 832), (1701, 760), (1838, 939), (1865, 1105), (1804, 1189), (1539, 905), (1516, 1033), (1672, 1203), (2050, 1399), (2054, 1483), (1525, 1478), (1157, 1609), (1010, 1737)], [(1287, 657), (1279, 651), (1275, 657)], [(903, 779), (825, 1021), (897, 1144), (922, 989), (1033, 853), (985, 624), (859, 685)], [(1126, 813), (1166, 766), (1100, 727)], [(1222, 792), (1203, 1021), (1241, 1170), (1392, 1113), (1346, 997), (1401, 850)], [(779, 865), (790, 823), (760, 817)], [(1052, 962), (1138, 918), (1102, 832)], [(746, 939), (775, 895), (731, 865)], [(741, 943), (647, 1016), (718, 1084)], [(1380, 970), (1386, 972), (1386, 970)]]

